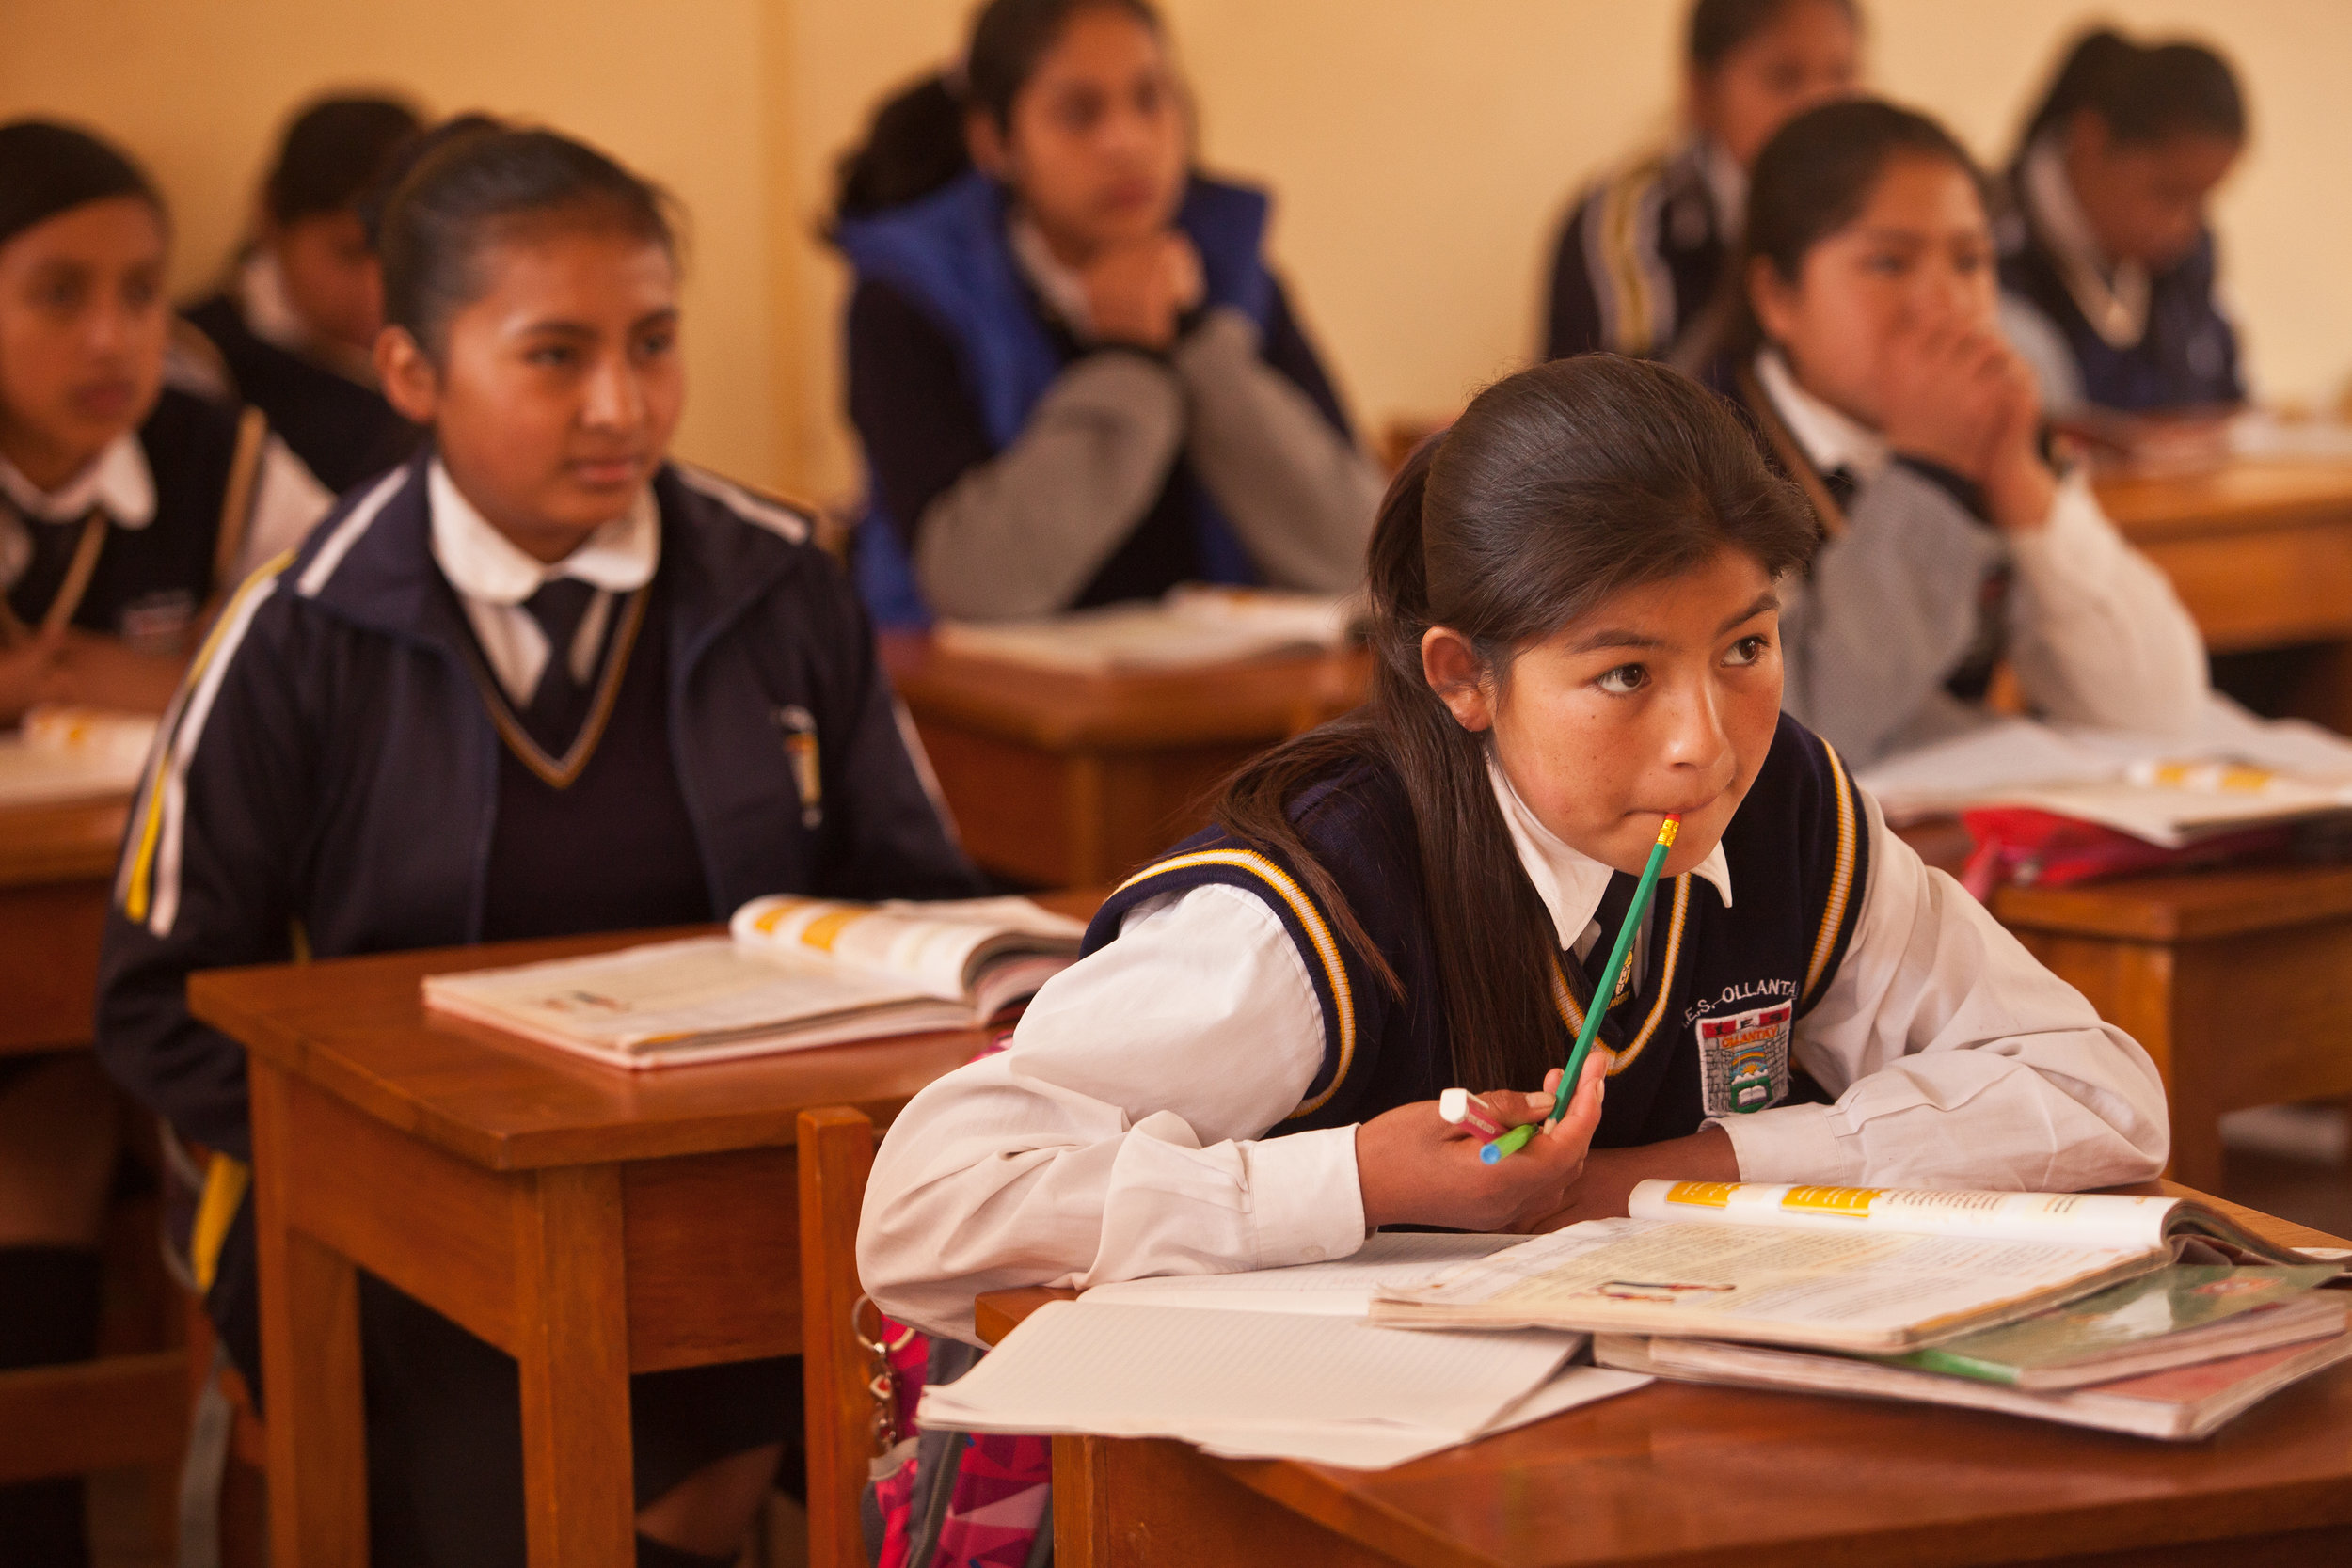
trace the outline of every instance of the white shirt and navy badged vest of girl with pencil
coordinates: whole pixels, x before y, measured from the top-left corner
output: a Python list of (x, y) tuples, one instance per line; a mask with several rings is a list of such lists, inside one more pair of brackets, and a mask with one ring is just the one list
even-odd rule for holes
[[(1635, 877), (1569, 849), (1489, 773), (1559, 940), (1566, 1056)], [(1296, 867), (1218, 830), (1178, 846), (1103, 905), (1009, 1051), (891, 1126), (858, 1229), (884, 1312), (969, 1340), (981, 1291), (1362, 1244), (1355, 1124), (1454, 1081), (1418, 839), (1371, 757), (1301, 792), (1291, 820), (1402, 999)], [(1722, 844), (1661, 884), (1632, 973), (1597, 1046), (1597, 1147), (1715, 1121), (1762, 1182), (2067, 1190), (2164, 1166), (2147, 1053), (1926, 870), (1795, 719)]]

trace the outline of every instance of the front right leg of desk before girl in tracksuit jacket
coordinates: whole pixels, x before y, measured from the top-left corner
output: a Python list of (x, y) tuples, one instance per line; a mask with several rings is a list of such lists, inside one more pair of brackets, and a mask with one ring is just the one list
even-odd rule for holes
[(532, 1568), (633, 1568), (621, 1168), (529, 1178), (515, 1206), (515, 1361)]

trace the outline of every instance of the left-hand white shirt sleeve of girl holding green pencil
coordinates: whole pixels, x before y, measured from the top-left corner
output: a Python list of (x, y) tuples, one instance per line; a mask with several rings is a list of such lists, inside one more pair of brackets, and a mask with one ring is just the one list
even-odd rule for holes
[(894, 1319), (969, 1340), (983, 1291), (1343, 1258), (1364, 1241), (1355, 1128), (1263, 1138), (1322, 1058), (1322, 1004), (1263, 900), (1143, 903), (1037, 992), (1011, 1048), (898, 1112), (858, 1279)]

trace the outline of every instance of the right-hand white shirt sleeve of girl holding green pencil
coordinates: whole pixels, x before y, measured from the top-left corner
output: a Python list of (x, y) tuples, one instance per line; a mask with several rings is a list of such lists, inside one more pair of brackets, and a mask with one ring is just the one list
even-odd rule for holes
[(2157, 1175), (2171, 1126), (2147, 1053), (1875, 799), (1867, 816), (1860, 924), (1792, 1041), (1837, 1103), (1722, 1117), (1740, 1180), (2077, 1192)]

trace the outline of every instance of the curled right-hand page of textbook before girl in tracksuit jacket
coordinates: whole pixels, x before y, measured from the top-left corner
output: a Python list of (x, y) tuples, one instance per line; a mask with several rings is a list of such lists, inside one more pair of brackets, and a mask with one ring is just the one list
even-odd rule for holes
[(1087, 926), (1028, 898), (844, 903), (776, 893), (736, 910), (729, 931), (753, 952), (830, 959), (920, 985), (931, 997), (971, 1001), (988, 959), (1000, 952), (1075, 959)]

